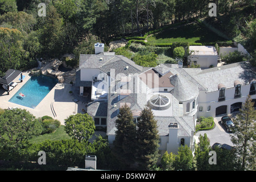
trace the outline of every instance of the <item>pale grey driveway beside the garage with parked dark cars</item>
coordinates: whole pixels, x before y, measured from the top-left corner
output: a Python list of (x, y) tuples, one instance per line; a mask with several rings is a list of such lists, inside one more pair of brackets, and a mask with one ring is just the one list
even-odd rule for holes
[(208, 131), (199, 131), (196, 133), (196, 142), (198, 142), (197, 138), (199, 135), (204, 135), (205, 133), (207, 134), (207, 137), (210, 140), (210, 146), (212, 146), (214, 143), (226, 143), (229, 144), (230, 146), (233, 146), (233, 143), (231, 142), (231, 135), (232, 133), (228, 133), (226, 131), (226, 127), (224, 125), (221, 125), (221, 117), (223, 115), (214, 118), (214, 123), (215, 127), (213, 130), (208, 130)]

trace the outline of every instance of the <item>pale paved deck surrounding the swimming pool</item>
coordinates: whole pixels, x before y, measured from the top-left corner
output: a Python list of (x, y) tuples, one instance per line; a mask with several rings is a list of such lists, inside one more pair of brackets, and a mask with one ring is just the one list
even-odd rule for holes
[[(25, 76), (23, 82), (19, 81), (19, 77), (15, 78), (14, 82), (18, 83), (13, 90), (10, 91), (8, 95), (7, 92), (0, 88), (0, 108), (8, 109), (9, 107), (18, 107), (20, 109), (26, 109), (31, 114), (33, 114), (36, 118), (43, 117), (44, 115), (48, 115), (52, 118), (55, 118), (60, 121), (61, 125), (64, 125), (65, 120), (69, 117), (69, 115), (83, 113), (82, 109), (85, 109), (85, 104), (82, 101), (74, 102), (74, 96), (69, 95), (70, 90), (74, 90), (71, 84), (67, 83), (57, 83), (55, 87), (47, 94), (46, 97), (35, 107), (32, 109), (30, 107), (14, 104), (9, 102), (10, 98), (14, 96), (16, 92), (30, 79), (29, 72), (23, 72)], [(53, 109), (56, 113), (54, 115)]]

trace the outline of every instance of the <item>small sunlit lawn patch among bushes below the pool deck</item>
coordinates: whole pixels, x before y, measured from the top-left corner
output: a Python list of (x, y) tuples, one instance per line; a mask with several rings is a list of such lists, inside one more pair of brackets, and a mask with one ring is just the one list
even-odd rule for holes
[(60, 127), (51, 134), (44, 134), (44, 135), (39, 135), (38, 137), (34, 137), (29, 140), (31, 143), (37, 143), (37, 142), (43, 142), (44, 140), (62, 140), (62, 139), (71, 139), (67, 133), (65, 133), (64, 126), (60, 125)]

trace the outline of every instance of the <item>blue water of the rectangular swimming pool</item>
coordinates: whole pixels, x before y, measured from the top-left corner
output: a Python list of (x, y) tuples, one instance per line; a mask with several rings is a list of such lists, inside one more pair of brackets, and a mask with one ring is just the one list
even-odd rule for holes
[[(22, 106), (35, 108), (46, 95), (51, 91), (51, 89), (57, 84), (57, 79), (48, 76), (32, 76), (30, 80), (26, 82), (14, 94), (9, 102), (19, 104)], [(23, 93), (26, 97), (19, 96), (19, 93)]]

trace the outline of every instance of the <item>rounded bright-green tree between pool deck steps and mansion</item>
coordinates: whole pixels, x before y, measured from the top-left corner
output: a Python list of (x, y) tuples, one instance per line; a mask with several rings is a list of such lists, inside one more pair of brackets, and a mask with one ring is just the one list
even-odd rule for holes
[(88, 114), (78, 113), (65, 119), (65, 131), (74, 139), (88, 141), (94, 134), (95, 125), (93, 118)]

